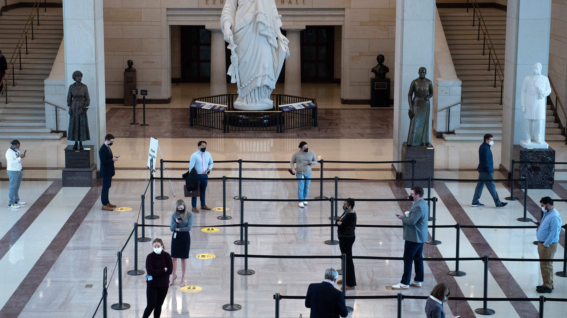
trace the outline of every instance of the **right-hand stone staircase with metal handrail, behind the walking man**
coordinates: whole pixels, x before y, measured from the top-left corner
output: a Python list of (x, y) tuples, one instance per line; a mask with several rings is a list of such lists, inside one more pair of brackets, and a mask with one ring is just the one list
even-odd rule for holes
[[(500, 79), (494, 87), (494, 62), (488, 71), (488, 46), (483, 55), (483, 31), (477, 40), (478, 25), (472, 26), (472, 9), (438, 8), (458, 78), (462, 81), (461, 124), (455, 134), (443, 134), (443, 139), (482, 141), (484, 134), (502, 140), (502, 105), (500, 105)], [(481, 8), (494, 50), (504, 69), (506, 46), (506, 11)], [(476, 19), (476, 18), (475, 18)], [(488, 40), (486, 40), (488, 43)], [(491, 57), (494, 58), (494, 57)], [(545, 141), (562, 141), (561, 130), (555, 123), (551, 105), (547, 105)]]

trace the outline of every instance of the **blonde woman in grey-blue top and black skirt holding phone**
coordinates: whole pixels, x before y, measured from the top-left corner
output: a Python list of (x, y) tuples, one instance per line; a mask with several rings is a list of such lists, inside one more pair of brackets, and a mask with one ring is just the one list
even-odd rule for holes
[(171, 257), (173, 259), (173, 277), (170, 286), (175, 285), (177, 275), (177, 259), (181, 259), (181, 286), (185, 286), (185, 269), (189, 258), (189, 247), (191, 247), (191, 236), (189, 231), (193, 227), (193, 212), (187, 210), (187, 204), (183, 200), (175, 202), (175, 212), (171, 214)]

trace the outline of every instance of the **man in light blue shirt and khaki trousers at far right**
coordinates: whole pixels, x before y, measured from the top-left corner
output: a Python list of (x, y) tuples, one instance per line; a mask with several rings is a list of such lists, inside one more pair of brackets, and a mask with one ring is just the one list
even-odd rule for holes
[[(553, 208), (553, 200), (551, 197), (544, 196), (539, 201), (543, 217), (536, 230), (536, 238), (538, 238), (538, 254), (540, 259), (553, 259), (555, 251), (557, 251), (557, 242), (559, 242), (559, 233), (561, 232), (561, 216), (555, 208)], [(553, 262), (541, 261), (539, 263), (541, 269), (541, 278), (543, 285), (536, 286), (538, 293), (551, 293), (553, 291)]]

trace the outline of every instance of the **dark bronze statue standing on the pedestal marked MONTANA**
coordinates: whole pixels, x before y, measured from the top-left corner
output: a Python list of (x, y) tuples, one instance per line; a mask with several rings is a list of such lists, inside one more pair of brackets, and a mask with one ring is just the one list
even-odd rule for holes
[(87, 110), (91, 104), (88, 97), (87, 85), (81, 83), (83, 73), (73, 72), (74, 84), (69, 85), (67, 92), (67, 107), (69, 107), (69, 129), (67, 129), (67, 140), (75, 141), (73, 149), (83, 148), (83, 141), (91, 140), (88, 132)]

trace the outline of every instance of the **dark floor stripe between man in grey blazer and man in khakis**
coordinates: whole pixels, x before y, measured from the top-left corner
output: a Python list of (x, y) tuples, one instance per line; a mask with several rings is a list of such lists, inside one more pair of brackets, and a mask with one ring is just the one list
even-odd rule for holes
[[(434, 188), (439, 198), (443, 200), (443, 204), (445, 204), (446, 207), (451, 207), (448, 210), (455, 219), (455, 222), (459, 224), (474, 224), (445, 183), (435, 182)], [(485, 255), (498, 257), (496, 252), (490, 247), (490, 244), (486, 242), (486, 239), (483, 237), (483, 234), (480, 233), (479, 229), (462, 229), (462, 231), (480, 257)], [(518, 282), (501, 261), (490, 261), (488, 263), (488, 269), (507, 298), (527, 298), (522, 287), (519, 286)], [(480, 279), (481, 277), (479, 277), (479, 280)], [(488, 294), (490, 296), (490, 290)], [(536, 310), (534, 304), (531, 302), (510, 302), (510, 304), (521, 318), (533, 318), (539, 315), (538, 310)]]

